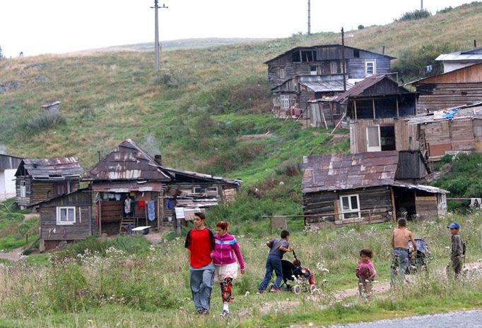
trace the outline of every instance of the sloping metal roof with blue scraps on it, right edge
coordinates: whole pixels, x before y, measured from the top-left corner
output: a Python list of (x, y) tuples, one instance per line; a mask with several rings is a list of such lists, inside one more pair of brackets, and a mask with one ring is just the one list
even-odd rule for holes
[[(449, 113), (453, 113), (450, 115)], [(459, 119), (482, 119), (482, 102), (447, 109), (447, 111), (434, 111), (408, 119), (408, 124), (435, 123)]]

